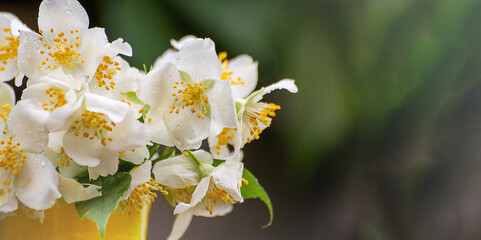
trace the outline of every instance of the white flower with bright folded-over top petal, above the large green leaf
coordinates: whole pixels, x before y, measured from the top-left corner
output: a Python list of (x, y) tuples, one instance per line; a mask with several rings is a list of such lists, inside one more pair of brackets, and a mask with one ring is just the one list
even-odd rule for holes
[(90, 93), (84, 98), (84, 107), (79, 106), (64, 126), (62, 145), (68, 158), (88, 166), (96, 179), (117, 171), (119, 154), (145, 147), (147, 130), (128, 104)]

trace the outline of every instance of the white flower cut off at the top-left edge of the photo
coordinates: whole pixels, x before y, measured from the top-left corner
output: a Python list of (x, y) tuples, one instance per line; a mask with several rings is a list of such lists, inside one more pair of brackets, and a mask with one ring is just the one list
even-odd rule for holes
[(16, 77), (17, 86), (21, 85), (23, 79), (17, 67), (20, 30), (31, 31), (15, 15), (0, 12), (0, 82)]

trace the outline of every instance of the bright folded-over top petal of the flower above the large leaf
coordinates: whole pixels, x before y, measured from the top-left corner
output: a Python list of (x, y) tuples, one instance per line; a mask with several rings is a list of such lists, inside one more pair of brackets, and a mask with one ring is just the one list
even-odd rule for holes
[(88, 111), (102, 113), (114, 123), (122, 121), (129, 111), (129, 105), (127, 103), (91, 93), (85, 93), (84, 96), (85, 108), (87, 108)]

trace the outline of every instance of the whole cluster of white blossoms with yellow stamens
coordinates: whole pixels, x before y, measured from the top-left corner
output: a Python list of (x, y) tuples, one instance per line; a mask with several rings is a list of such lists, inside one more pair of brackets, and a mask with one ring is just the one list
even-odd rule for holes
[[(0, 13), (0, 219), (20, 208), (43, 220), (58, 199), (101, 199), (107, 186), (96, 180), (119, 172), (130, 175), (121, 208), (140, 210), (157, 193), (175, 206), (170, 239), (192, 216), (225, 215), (243, 202), (241, 149), (280, 109), (263, 96), (297, 92), (293, 80), (254, 91), (257, 62), (228, 60), (212, 40), (194, 36), (172, 40), (140, 71), (122, 58), (130, 45), (89, 28), (76, 0), (43, 1), (38, 28)], [(5, 82), (20, 86), (24, 77), (15, 102)]]

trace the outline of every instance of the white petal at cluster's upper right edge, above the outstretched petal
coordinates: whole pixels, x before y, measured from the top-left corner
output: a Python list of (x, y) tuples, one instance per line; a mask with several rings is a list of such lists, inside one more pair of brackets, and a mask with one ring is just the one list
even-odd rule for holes
[(232, 71), (232, 80), (237, 82), (238, 78), (242, 84), (234, 84), (232, 87), (232, 97), (245, 98), (254, 91), (257, 85), (257, 65), (251, 56), (240, 55), (229, 61), (229, 71)]

